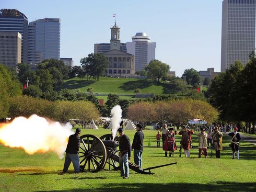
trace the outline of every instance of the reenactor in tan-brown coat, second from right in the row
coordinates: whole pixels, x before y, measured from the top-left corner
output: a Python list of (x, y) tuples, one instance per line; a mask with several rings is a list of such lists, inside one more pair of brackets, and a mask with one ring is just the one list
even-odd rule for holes
[(211, 137), (212, 137), (212, 144), (215, 149), (215, 156), (216, 156), (216, 158), (221, 158), (222, 133), (220, 132), (219, 127), (217, 127), (217, 126), (214, 127)]

